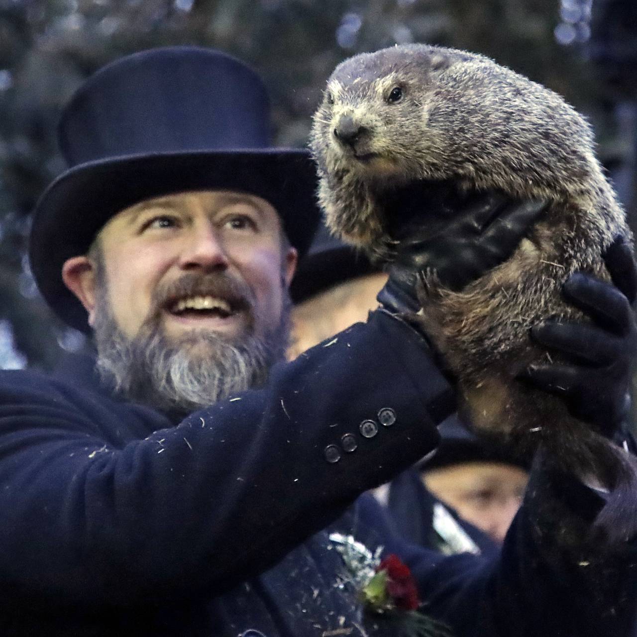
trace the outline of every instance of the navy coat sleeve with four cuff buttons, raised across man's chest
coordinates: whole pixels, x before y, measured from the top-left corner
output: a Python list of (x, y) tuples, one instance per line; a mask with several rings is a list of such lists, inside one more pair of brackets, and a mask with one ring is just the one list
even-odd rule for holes
[(122, 445), (77, 390), (24, 378), (0, 376), (0, 586), (43, 604), (231, 589), (434, 448), (454, 408), (422, 339), (382, 311)]

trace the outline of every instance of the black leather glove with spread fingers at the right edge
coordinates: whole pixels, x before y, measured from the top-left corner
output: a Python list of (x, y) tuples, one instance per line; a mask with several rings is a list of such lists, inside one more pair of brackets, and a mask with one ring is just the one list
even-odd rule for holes
[(522, 379), (562, 396), (573, 416), (615, 441), (619, 434), (624, 444), (622, 429), (637, 355), (637, 322), (631, 307), (637, 297), (637, 268), (631, 248), (621, 238), (608, 248), (605, 262), (614, 285), (582, 273), (564, 283), (564, 296), (593, 320), (592, 325), (549, 322), (531, 329), (534, 340), (573, 362), (533, 366)]

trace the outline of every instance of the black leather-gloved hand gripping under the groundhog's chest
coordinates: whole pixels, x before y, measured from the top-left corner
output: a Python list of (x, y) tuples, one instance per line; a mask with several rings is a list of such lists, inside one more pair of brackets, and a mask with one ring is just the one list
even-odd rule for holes
[[(548, 202), (511, 201), (501, 194), (482, 193), (459, 205), (443, 211), (448, 219), (438, 221), (434, 231), (429, 222), (412, 221), (397, 234), (389, 280), (376, 297), (386, 310), (418, 310), (416, 284), (421, 272), (434, 271), (442, 285), (458, 292), (506, 261)], [(436, 211), (429, 216), (436, 217)]]

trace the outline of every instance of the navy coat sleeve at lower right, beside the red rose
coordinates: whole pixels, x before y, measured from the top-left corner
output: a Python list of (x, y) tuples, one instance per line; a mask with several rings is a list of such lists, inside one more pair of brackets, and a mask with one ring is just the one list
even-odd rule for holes
[(385, 541), (419, 583), (424, 612), (466, 637), (635, 637), (637, 538), (604, 543), (604, 500), (541, 457), (501, 554), (442, 557)]

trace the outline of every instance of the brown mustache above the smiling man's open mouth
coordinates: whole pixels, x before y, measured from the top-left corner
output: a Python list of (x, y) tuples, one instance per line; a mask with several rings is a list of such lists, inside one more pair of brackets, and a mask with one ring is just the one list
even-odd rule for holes
[(157, 285), (153, 291), (149, 316), (159, 317), (177, 301), (188, 296), (214, 296), (226, 301), (234, 312), (245, 312), (252, 317), (255, 295), (252, 288), (240, 278), (227, 272), (186, 273), (180, 278)]

